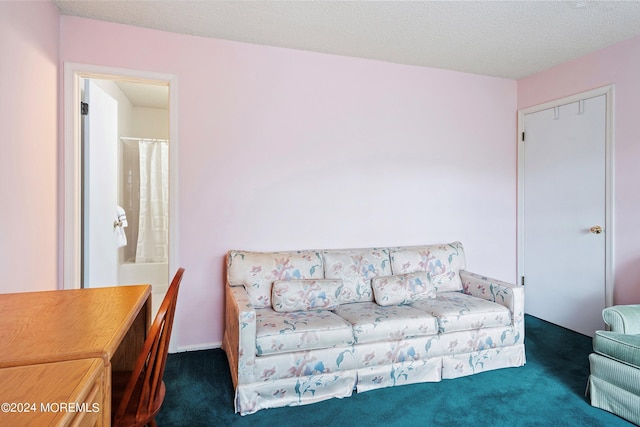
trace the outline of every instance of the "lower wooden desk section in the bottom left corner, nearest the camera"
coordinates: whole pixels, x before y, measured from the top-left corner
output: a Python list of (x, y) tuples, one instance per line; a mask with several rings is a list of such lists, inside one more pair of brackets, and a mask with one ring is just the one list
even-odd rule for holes
[(102, 359), (0, 369), (0, 425), (101, 425)]

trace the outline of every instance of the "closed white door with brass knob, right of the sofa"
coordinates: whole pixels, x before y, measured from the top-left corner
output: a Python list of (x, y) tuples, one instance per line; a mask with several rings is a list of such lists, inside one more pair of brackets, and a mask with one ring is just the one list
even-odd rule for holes
[(605, 95), (524, 116), (525, 311), (589, 336), (604, 328), (605, 131)]

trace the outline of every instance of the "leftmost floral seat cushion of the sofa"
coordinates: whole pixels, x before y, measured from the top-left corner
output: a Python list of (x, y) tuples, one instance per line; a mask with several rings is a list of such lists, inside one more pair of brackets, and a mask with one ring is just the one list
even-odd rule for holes
[(351, 325), (328, 310), (278, 313), (256, 309), (258, 356), (353, 344)]

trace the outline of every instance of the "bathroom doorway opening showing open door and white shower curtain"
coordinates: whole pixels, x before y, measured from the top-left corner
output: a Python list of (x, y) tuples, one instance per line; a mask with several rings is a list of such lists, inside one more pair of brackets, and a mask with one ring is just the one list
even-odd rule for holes
[[(82, 286), (168, 288), (169, 87), (81, 78)], [(154, 309), (155, 312), (155, 309)]]

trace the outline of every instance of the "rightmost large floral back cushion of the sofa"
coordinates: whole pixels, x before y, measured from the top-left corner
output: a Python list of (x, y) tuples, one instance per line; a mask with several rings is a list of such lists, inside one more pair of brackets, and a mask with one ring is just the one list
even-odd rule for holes
[(438, 292), (461, 291), (460, 270), (465, 267), (464, 249), (460, 242), (391, 250), (393, 274), (426, 271)]

